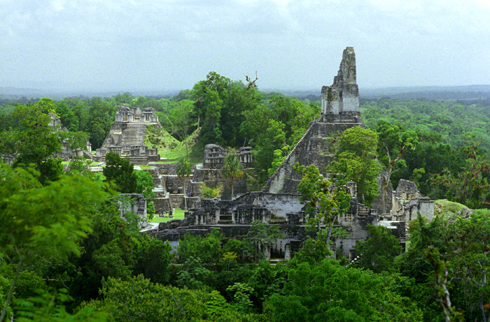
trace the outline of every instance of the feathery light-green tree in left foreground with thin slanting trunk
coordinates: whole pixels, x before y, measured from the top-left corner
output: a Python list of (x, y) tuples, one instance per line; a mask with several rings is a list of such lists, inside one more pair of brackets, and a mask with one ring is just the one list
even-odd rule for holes
[(32, 169), (0, 164), (0, 255), (9, 254), (17, 270), (2, 309), (8, 303), (19, 272), (37, 256), (80, 255), (78, 242), (92, 231), (88, 219), (107, 198), (100, 182), (73, 175), (41, 186)]

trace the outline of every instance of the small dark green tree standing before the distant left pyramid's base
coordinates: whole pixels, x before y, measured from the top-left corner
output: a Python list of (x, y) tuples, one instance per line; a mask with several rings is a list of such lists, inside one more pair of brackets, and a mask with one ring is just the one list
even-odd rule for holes
[(134, 165), (129, 159), (123, 159), (114, 152), (106, 154), (106, 167), (102, 170), (106, 182), (114, 182), (120, 193), (135, 193), (137, 177), (134, 174)]

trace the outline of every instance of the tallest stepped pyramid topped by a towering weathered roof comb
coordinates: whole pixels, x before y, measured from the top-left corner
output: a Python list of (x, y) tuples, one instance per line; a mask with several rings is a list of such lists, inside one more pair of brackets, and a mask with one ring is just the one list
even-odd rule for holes
[(269, 193), (296, 193), (301, 176), (293, 170), (296, 162), (302, 166), (314, 164), (325, 175), (325, 167), (333, 160), (328, 152), (328, 136), (363, 126), (360, 123), (359, 89), (356, 84), (356, 54), (346, 47), (339, 72), (332, 86), (321, 89), (321, 117), (309, 124), (307, 131), (286, 156), (281, 166), (269, 178), (262, 191)]

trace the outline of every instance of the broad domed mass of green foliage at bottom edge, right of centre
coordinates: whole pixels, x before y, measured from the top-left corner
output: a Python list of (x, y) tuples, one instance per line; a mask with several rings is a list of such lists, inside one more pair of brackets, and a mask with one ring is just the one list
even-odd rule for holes
[(393, 301), (377, 275), (329, 258), (292, 268), (283, 293), (270, 303), (272, 321), (420, 321), (420, 314), (403, 312), (405, 303)]

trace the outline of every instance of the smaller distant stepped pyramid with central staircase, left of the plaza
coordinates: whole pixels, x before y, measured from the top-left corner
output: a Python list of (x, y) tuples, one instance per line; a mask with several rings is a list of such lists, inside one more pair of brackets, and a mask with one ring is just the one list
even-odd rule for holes
[(106, 154), (114, 152), (123, 158), (129, 158), (134, 164), (148, 164), (148, 162), (160, 161), (157, 149), (145, 146), (144, 138), (146, 126), (153, 125), (160, 128), (158, 116), (153, 108), (130, 108), (123, 104), (116, 112), (116, 122), (100, 149), (93, 156), (95, 162), (105, 162)]

